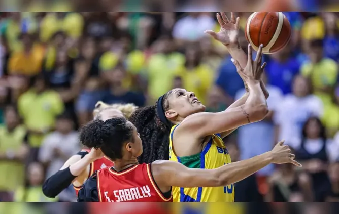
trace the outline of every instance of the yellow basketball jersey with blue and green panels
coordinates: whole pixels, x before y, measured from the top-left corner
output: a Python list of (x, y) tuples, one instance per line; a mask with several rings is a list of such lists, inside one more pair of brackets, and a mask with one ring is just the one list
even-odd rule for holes
[[(179, 125), (179, 124), (178, 124)], [(169, 135), (169, 160), (177, 161), (189, 168), (214, 169), (231, 163), (226, 146), (220, 134), (212, 135), (205, 148), (196, 155), (178, 157), (173, 152), (173, 132), (178, 127), (175, 125)], [(233, 202), (234, 186), (225, 187), (173, 187), (172, 195), (174, 202)]]

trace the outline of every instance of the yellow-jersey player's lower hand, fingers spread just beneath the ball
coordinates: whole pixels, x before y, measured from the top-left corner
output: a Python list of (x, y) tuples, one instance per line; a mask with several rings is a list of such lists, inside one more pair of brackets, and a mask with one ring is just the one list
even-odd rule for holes
[(251, 80), (257, 80), (259, 81), (261, 79), (261, 74), (266, 66), (266, 63), (262, 63), (262, 47), (261, 44), (257, 53), (257, 56), (255, 57), (255, 60), (252, 59), (252, 47), (250, 44), (248, 44), (248, 60), (247, 65), (245, 68), (242, 68), (238, 61), (231, 59), (233, 64), (236, 67), (236, 71), (239, 73), (241, 78), (248, 83), (248, 81)]

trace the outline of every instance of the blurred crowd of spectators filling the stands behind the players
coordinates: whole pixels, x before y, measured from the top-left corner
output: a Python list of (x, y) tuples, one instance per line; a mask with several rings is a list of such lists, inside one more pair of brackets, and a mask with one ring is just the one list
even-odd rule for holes
[[(240, 44), (246, 50), (246, 19)], [(244, 93), (227, 49), (204, 34), (216, 12), (1, 12), (0, 201), (75, 201), (41, 185), (81, 148), (97, 101), (154, 104), (185, 88), (222, 111)], [(225, 142), (232, 161), (284, 139), (303, 164), (269, 165), (236, 184), (236, 201), (339, 201), (339, 19), (286, 12), (293, 35), (266, 55), (269, 114)]]

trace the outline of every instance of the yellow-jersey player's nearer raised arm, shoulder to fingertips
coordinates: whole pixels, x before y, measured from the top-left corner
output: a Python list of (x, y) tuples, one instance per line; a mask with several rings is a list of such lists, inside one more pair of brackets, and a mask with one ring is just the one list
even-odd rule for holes
[(222, 133), (252, 122), (257, 122), (268, 112), (265, 96), (260, 88), (260, 76), (265, 63), (261, 66), (260, 46), (256, 59), (252, 60), (252, 47), (248, 46), (248, 63), (243, 69), (239, 62), (233, 60), (238, 73), (248, 84), (250, 93), (244, 105), (226, 109), (218, 113), (196, 113), (188, 116), (176, 129), (177, 133), (188, 132), (204, 138), (216, 133)]

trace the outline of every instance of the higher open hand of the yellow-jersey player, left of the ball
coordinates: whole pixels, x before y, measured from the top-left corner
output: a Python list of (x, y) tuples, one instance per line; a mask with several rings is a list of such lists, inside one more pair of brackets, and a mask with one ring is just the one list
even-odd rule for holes
[(213, 30), (206, 30), (205, 33), (227, 47), (238, 46), (240, 18), (235, 18), (234, 12), (231, 12), (231, 19), (229, 20), (225, 12), (220, 12), (220, 14), (217, 13), (217, 19), (220, 24), (220, 31), (216, 33)]

